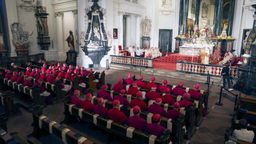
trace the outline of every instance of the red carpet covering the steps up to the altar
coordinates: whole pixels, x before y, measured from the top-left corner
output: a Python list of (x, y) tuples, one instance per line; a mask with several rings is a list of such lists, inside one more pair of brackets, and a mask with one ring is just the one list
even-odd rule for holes
[[(162, 57), (153, 60), (153, 68), (175, 71), (177, 59), (191, 62), (192, 56), (180, 55), (179, 53), (168, 53), (166, 56), (166, 53), (162, 53)], [(198, 56), (193, 57), (193, 62), (198, 62)]]

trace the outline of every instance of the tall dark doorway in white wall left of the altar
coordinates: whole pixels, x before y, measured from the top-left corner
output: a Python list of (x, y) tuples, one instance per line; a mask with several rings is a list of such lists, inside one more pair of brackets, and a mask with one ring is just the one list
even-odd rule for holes
[(168, 45), (168, 52), (172, 52), (172, 29), (159, 29), (158, 46), (160, 52), (166, 52)]

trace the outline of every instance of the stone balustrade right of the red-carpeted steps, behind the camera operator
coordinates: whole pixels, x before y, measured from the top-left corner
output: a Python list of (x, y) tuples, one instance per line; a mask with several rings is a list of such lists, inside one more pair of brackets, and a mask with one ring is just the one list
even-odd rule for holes
[[(177, 62), (176, 71), (182, 71), (186, 73), (196, 73), (196, 74), (209, 74), (213, 76), (221, 76), (221, 71), (225, 66), (192, 63), (192, 62)], [(237, 78), (238, 67), (230, 68), (230, 76)]]

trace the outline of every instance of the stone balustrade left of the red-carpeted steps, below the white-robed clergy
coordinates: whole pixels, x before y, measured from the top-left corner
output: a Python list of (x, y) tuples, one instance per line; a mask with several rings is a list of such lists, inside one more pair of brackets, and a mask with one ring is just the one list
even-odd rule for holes
[(153, 59), (127, 56), (111, 56), (111, 63), (129, 65), (134, 67), (153, 68)]

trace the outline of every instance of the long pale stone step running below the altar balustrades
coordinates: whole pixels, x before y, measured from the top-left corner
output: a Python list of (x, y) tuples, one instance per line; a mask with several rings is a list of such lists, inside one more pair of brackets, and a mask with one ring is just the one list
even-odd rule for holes
[[(140, 73), (140, 67), (133, 67), (133, 66), (121, 65), (121, 64), (110, 64), (110, 68)], [(188, 81), (193, 81), (193, 82), (201, 82), (201, 83), (205, 83), (207, 81), (207, 75), (188, 74), (188, 73), (163, 70), (163, 69), (141, 68), (141, 73), (176, 78), (176, 79), (180, 79), (180, 80), (188, 80)], [(211, 84), (213, 83), (215, 85), (218, 85), (219, 82), (221, 82), (220, 77), (211, 76)], [(233, 80), (233, 83), (235, 83), (234, 80)], [(221, 83), (221, 85), (222, 85), (222, 83)]]

